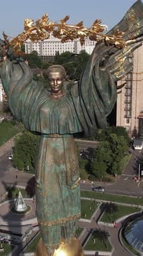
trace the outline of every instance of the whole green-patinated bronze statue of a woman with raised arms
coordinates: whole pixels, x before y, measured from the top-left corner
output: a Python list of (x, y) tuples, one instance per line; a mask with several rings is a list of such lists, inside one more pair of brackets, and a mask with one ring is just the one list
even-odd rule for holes
[[(80, 81), (65, 86), (65, 69), (48, 69), (48, 87), (33, 79), (23, 61), (12, 60), (2, 45), (2, 85), (8, 105), (18, 121), (41, 140), (36, 163), (36, 214), (45, 244), (40, 255), (80, 256), (83, 252), (75, 239), (75, 223), (80, 218), (78, 153), (74, 133), (87, 136), (106, 126), (106, 117), (115, 106), (115, 83), (132, 67), (128, 56), (141, 45), (143, 5), (138, 1), (115, 29), (124, 32), (126, 45), (98, 42)], [(45, 250), (44, 247), (42, 250)], [(72, 252), (71, 252), (71, 251)]]

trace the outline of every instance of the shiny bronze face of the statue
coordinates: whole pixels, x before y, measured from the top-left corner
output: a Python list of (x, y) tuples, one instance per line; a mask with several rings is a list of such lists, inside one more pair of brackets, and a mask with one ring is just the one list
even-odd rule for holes
[(52, 93), (58, 93), (62, 91), (64, 83), (64, 76), (62, 72), (49, 72), (48, 81), (52, 89)]

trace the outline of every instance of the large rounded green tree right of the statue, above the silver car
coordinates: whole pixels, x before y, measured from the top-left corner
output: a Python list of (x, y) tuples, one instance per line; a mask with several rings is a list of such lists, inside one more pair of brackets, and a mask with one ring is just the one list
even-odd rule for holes
[[(105, 173), (120, 174), (121, 160), (125, 157), (128, 150), (128, 142), (125, 136), (118, 136), (115, 133), (105, 134), (106, 141), (98, 143), (95, 149), (94, 160), (91, 163), (91, 171), (98, 177), (103, 179)], [(103, 138), (101, 138), (103, 140)]]

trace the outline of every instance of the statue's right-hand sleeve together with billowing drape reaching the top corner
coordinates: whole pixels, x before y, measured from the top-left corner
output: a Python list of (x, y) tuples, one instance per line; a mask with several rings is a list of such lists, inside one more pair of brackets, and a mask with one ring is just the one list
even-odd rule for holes
[(87, 136), (107, 126), (106, 118), (117, 100), (116, 82), (131, 72), (128, 56), (141, 45), (138, 39), (142, 41), (142, 13), (143, 4), (138, 0), (107, 34), (112, 35), (119, 29), (124, 32), (123, 39), (131, 41), (131, 45), (118, 49), (105, 42), (97, 43), (79, 83), (71, 88), (78, 119)]

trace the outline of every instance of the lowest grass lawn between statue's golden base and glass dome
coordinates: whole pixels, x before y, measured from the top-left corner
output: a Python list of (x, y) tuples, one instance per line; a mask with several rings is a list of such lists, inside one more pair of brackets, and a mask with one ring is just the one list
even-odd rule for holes
[(88, 240), (88, 243), (85, 245), (84, 250), (87, 251), (111, 251), (111, 244), (108, 240), (101, 241), (100, 239), (95, 238), (95, 244), (93, 237), (91, 236)]

